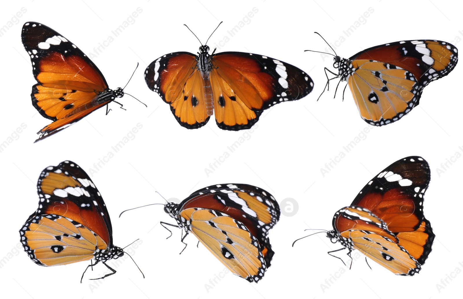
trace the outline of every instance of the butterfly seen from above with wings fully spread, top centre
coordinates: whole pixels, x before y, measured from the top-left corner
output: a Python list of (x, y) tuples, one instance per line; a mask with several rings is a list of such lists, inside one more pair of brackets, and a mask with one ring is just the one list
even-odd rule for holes
[(206, 125), (213, 114), (220, 129), (249, 129), (263, 110), (301, 99), (313, 89), (312, 79), (291, 64), (252, 53), (209, 54), (209, 46), (202, 43), (198, 55), (159, 57), (144, 77), (187, 129)]

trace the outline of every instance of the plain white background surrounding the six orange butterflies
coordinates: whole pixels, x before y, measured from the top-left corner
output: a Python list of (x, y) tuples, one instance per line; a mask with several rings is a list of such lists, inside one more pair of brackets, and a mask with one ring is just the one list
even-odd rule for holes
[[(127, 298), (170, 295), (265, 299), (388, 298), (392, 295), (448, 298), (461, 291), (458, 286), (463, 280), (463, 242), (459, 232), (463, 159), (457, 159), (440, 174), (437, 169), (442, 169), (441, 163), (456, 152), (463, 152), (459, 149), (463, 147), (462, 66), (457, 65), (450, 75), (426, 87), (420, 105), (409, 115), (361, 135), (363, 139), (356, 147), (323, 176), (320, 168), (325, 168), (325, 163), (341, 151), (345, 153), (343, 146), (358, 137), (367, 124), (359, 117), (349, 89), (344, 102), (339, 91), (336, 99), (332, 99), (337, 80), (333, 81), (333, 88), (316, 101), (325, 86), (323, 68), (332, 69), (332, 57), (323, 59), (318, 53), (303, 51), (327, 48), (313, 31), (320, 32), (333, 44), (343, 36), (345, 40), (338, 43), (336, 51), (346, 58), (371, 46), (409, 39), (440, 39), (460, 47), (463, 26), (457, 1), (275, 2), (132, 0), (116, 4), (36, 0), (11, 1), (2, 7), (0, 26), (9, 24), (22, 7), (27, 10), (19, 20), (13, 19), (13, 24), (17, 24), (0, 37), (3, 85), (0, 143), (8, 140), (22, 123), (27, 126), (0, 153), (2, 295), (34, 299), (112, 295)], [(142, 12), (134, 22), (129, 19), (133, 24), (114, 37), (111, 31), (127, 21), (138, 7)], [(258, 12), (249, 19), (249, 24), (230, 37), (227, 31), (239, 25), (254, 7)], [(374, 12), (360, 19), (361, 25), (346, 37), (343, 31), (355, 25), (369, 7)], [(31, 105), (31, 86), (35, 80), (20, 39), (21, 27), (27, 21), (50, 26), (86, 54), (113, 36), (113, 42), (93, 61), (112, 88), (123, 87), (139, 62), (140, 67), (125, 91), (145, 102), (148, 108), (126, 95), (119, 100), (127, 111), (110, 104), (113, 111), (107, 116), (104, 109), (100, 109), (64, 131), (33, 144), (35, 133), (50, 121)], [(197, 130), (181, 127), (169, 106), (144, 82), (144, 69), (159, 56), (175, 51), (197, 52), (200, 44), (183, 23), (204, 42), (219, 21), (224, 23), (209, 40), (212, 49), (228, 36), (230, 40), (222, 43), (224, 46), (217, 52), (249, 51), (274, 57), (303, 69), (315, 82), (313, 92), (306, 98), (265, 111), (249, 135), (246, 131), (222, 131), (213, 118)], [(341, 91), (342, 88), (344, 83), (340, 85)], [(100, 164), (102, 168), (94, 168), (94, 163), (113, 151), (111, 147), (138, 123), (143, 128), (135, 138), (106, 165)], [(230, 153), (227, 146), (243, 136), (248, 139)], [(205, 168), (225, 151), (230, 157), (221, 165), (216, 164), (218, 168), (207, 176)], [(372, 261), (370, 270), (363, 257), (354, 261), (349, 270), (326, 254), (338, 249), (339, 244), (331, 244), (323, 234), (308, 237), (291, 247), (296, 238), (308, 233), (304, 231), (307, 228), (330, 230), (333, 214), (350, 205), (373, 175), (409, 155), (423, 156), (432, 170), (424, 212), (436, 239), (420, 274), (396, 276)], [(86, 274), (81, 284), (79, 280), (86, 263), (39, 267), (22, 248), (16, 248), (19, 247), (18, 230), (37, 208), (36, 182), (40, 171), (63, 160), (72, 160), (87, 171), (97, 170), (92, 180), (112, 216), (114, 243), (124, 247), (140, 238), (142, 243), (129, 252), (133, 253), (145, 279), (127, 259), (116, 268), (117, 274), (104, 280), (88, 280), (106, 271), (99, 265), (93, 273)], [(282, 215), (270, 230), (275, 257), (258, 284), (250, 284), (232, 274), (224, 275), (224, 266), (204, 246), (196, 248), (194, 236), (186, 238), (188, 248), (179, 255), (183, 248), (181, 231), (174, 228), (173, 237), (165, 239), (169, 232), (158, 223), (174, 223), (174, 220), (163, 212), (162, 206), (138, 209), (118, 218), (125, 209), (162, 203), (155, 190), (167, 199), (182, 200), (196, 189), (217, 183), (256, 185), (272, 193), (279, 202), (292, 198), (299, 206), (294, 216)], [(282, 209), (287, 202), (283, 201)], [(338, 252), (338, 256), (348, 261), (344, 252)], [(216, 275), (224, 277), (216, 278), (214, 283)], [(338, 278), (328, 285), (325, 279), (329, 280), (332, 275)], [(447, 275), (454, 278), (450, 280)], [(210, 286), (207, 289), (206, 284)], [(441, 286), (439, 289), (437, 284)]]

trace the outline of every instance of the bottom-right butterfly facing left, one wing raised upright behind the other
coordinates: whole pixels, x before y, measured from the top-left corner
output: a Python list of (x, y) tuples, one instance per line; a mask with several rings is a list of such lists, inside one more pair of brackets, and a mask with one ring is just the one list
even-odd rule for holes
[(334, 215), (333, 230), (326, 234), (343, 248), (329, 254), (348, 249), (350, 256), (357, 249), (394, 274), (419, 273), (434, 240), (423, 215), (430, 178), (429, 165), (419, 156), (400, 159), (377, 174)]

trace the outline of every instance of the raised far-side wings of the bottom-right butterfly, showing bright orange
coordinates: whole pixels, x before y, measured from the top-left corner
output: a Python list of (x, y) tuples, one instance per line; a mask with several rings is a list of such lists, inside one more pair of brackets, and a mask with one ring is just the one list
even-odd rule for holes
[[(352, 202), (382, 219), (420, 264), (430, 254), (434, 240), (431, 224), (423, 214), (430, 179), (428, 163), (422, 157), (409, 156), (376, 175)], [(400, 237), (404, 237), (403, 242)]]

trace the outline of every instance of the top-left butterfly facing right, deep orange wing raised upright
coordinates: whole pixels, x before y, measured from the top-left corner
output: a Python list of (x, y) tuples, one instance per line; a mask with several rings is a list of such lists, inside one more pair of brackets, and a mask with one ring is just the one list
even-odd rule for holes
[[(118, 103), (124, 88), (112, 90), (96, 65), (67, 38), (36, 22), (24, 24), (21, 39), (31, 57), (32, 105), (53, 121), (37, 134), (42, 140), (81, 120), (96, 109)], [(122, 108), (124, 109), (124, 108)]]

